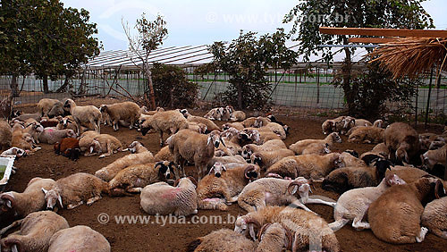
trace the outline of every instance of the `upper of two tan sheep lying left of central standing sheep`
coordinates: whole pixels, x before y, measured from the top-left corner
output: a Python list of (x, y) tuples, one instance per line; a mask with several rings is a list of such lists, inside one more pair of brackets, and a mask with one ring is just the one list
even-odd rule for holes
[(155, 162), (154, 155), (152, 155), (152, 153), (138, 141), (133, 141), (129, 146), (129, 149), (131, 150), (131, 154), (124, 155), (116, 159), (111, 164), (97, 170), (97, 172), (95, 172), (95, 176), (103, 181), (110, 181), (118, 172), (122, 171), (122, 169), (126, 167), (135, 164)]

